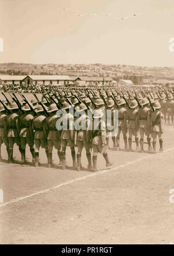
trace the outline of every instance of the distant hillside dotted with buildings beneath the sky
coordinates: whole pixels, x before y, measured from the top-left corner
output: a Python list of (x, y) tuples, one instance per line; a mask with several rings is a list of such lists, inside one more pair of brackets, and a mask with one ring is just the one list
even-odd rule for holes
[(143, 78), (174, 79), (174, 67), (142, 67), (121, 64), (30, 64), (0, 63), (0, 74), (13, 75), (70, 75), (99, 76), (128, 79), (130, 76)]

